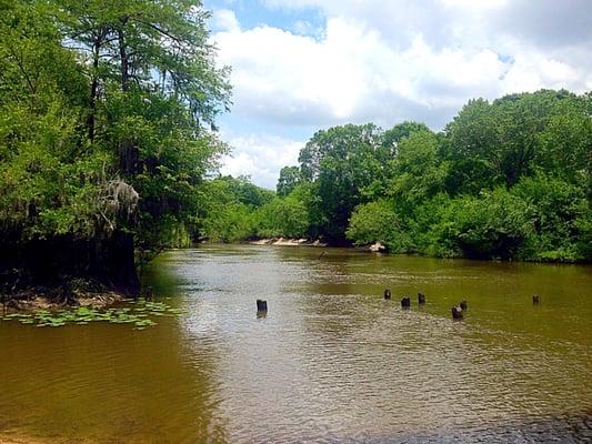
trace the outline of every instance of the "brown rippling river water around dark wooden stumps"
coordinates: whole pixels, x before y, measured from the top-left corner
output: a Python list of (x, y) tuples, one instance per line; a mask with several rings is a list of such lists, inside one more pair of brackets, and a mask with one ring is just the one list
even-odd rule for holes
[(592, 266), (212, 245), (144, 283), (184, 314), (0, 322), (0, 442), (592, 442)]

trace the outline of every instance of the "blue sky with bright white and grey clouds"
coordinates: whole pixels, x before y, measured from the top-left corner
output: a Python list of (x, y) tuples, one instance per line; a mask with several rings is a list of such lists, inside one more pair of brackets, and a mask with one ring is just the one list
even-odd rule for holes
[(230, 65), (222, 174), (274, 189), (319, 130), (441, 130), (470, 99), (592, 90), (592, 0), (204, 0)]

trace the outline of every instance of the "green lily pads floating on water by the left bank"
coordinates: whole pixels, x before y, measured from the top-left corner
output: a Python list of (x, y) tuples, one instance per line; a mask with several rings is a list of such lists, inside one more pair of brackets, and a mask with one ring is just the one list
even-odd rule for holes
[(21, 324), (38, 327), (58, 327), (67, 324), (88, 325), (91, 322), (109, 322), (111, 324), (132, 324), (134, 330), (144, 330), (157, 325), (150, 316), (175, 316), (183, 311), (174, 309), (162, 302), (150, 302), (143, 299), (126, 300), (131, 306), (117, 306), (109, 309), (93, 309), (81, 306), (71, 310), (37, 310), (31, 313), (11, 313), (1, 321), (17, 321)]

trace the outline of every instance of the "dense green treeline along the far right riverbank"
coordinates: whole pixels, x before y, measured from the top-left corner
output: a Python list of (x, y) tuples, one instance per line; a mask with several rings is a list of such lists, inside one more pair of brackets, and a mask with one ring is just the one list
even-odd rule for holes
[(592, 259), (592, 94), (471, 100), (442, 132), (403, 122), (317, 132), (277, 193), (204, 184), (212, 241), (322, 238), (443, 258)]

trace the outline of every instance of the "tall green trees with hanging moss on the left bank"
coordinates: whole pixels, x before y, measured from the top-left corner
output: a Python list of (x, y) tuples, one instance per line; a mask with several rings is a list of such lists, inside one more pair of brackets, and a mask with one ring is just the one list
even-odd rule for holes
[(194, 232), (227, 150), (209, 14), (194, 0), (0, 11), (0, 293), (137, 293), (137, 265)]

